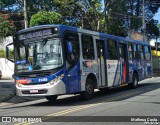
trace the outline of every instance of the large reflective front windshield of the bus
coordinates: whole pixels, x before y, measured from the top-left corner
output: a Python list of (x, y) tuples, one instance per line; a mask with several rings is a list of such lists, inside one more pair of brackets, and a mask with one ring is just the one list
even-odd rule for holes
[(25, 41), (15, 46), (15, 70), (18, 72), (49, 70), (62, 66), (62, 46), (59, 39)]

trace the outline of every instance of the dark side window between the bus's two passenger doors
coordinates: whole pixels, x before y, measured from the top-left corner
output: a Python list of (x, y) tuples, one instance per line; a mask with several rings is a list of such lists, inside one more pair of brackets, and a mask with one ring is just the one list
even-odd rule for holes
[(108, 46), (108, 59), (117, 60), (118, 59), (117, 42), (109, 39), (107, 41), (107, 46)]

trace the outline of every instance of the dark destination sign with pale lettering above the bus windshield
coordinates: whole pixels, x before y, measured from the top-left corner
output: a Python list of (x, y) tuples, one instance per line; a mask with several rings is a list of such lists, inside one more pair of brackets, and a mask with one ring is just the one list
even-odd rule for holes
[(45, 30), (21, 34), (19, 35), (19, 40), (26, 40), (26, 39), (31, 39), (31, 38), (41, 37), (41, 36), (47, 36), (51, 34), (52, 34), (52, 29), (45, 29)]

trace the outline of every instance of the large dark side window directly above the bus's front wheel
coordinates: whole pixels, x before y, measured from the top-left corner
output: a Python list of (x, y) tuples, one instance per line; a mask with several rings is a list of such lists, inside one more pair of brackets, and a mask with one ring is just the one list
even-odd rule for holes
[(82, 35), (82, 52), (84, 59), (94, 59), (94, 45), (92, 36)]

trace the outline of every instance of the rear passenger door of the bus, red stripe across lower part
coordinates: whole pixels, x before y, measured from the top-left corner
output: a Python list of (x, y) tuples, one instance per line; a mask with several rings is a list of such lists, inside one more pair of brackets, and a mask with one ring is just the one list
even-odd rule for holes
[(120, 76), (121, 83), (124, 84), (128, 81), (128, 56), (127, 56), (127, 45), (119, 43), (119, 55), (120, 55)]

